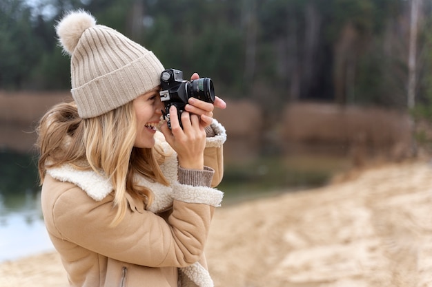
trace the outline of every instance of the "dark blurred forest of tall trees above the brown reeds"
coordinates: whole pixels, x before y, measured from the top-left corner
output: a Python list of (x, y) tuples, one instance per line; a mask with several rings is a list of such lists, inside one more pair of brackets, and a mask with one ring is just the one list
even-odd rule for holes
[(432, 115), (429, 0), (2, 0), (1, 90), (70, 88), (54, 26), (77, 8), (268, 115), (307, 100)]

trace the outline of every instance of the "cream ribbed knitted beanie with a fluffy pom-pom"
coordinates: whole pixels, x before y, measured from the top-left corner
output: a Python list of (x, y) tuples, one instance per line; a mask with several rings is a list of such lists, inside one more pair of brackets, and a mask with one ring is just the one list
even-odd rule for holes
[(81, 118), (116, 109), (160, 85), (164, 66), (153, 52), (104, 25), (84, 10), (68, 12), (56, 26), (70, 54), (72, 98)]

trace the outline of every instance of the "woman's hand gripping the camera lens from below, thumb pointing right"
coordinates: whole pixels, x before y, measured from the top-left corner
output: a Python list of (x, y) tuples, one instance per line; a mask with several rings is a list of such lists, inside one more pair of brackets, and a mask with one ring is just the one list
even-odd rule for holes
[[(190, 77), (190, 81), (197, 80), (198, 78), (199, 75), (194, 73)], [(204, 100), (198, 100), (197, 98), (191, 97), (188, 99), (188, 104), (186, 105), (185, 109), (191, 114), (196, 114), (199, 116), (199, 121), (202, 127), (207, 127), (213, 122), (213, 110), (215, 107), (219, 109), (225, 109), (226, 103), (218, 96), (215, 96), (215, 103), (207, 103), (204, 102)]]

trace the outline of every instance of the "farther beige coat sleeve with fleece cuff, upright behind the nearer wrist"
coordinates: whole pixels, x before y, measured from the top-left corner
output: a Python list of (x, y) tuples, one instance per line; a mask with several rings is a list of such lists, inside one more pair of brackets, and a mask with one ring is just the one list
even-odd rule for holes
[(224, 177), (223, 145), (226, 141), (226, 130), (215, 119), (213, 119), (213, 123), (209, 128), (210, 131), (207, 131), (206, 149), (204, 149), (204, 165), (215, 170), (211, 186), (217, 187)]

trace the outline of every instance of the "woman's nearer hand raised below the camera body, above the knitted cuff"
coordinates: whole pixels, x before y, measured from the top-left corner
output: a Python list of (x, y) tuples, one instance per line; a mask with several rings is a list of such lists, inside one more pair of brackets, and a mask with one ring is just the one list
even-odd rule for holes
[(177, 116), (177, 108), (170, 107), (170, 124), (164, 123), (160, 129), (166, 142), (177, 152), (179, 166), (184, 169), (204, 169), (204, 148), (206, 147), (206, 131), (196, 114), (188, 111), (181, 113), (181, 125)]

